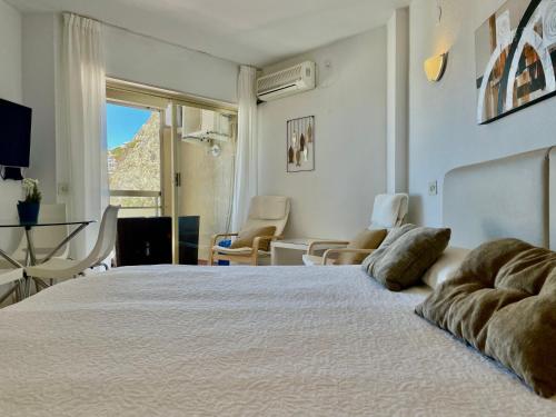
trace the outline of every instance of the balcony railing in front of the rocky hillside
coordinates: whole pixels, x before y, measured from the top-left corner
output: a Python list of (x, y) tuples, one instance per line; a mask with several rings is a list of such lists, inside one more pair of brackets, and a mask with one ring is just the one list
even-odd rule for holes
[[(145, 203), (142, 201), (145, 201)], [(121, 206), (120, 210), (120, 212), (122, 214), (121, 217), (130, 217), (130, 216), (158, 217), (162, 214), (162, 192), (138, 191), (138, 190), (110, 190), (110, 203)]]

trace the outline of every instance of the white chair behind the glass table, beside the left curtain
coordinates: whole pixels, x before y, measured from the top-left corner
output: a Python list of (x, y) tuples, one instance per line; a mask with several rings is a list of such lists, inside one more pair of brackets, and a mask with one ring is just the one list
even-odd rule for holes
[[(39, 212), (39, 222), (41, 224), (58, 224), (66, 221), (66, 205), (41, 205)], [(36, 227), (33, 228), (33, 246), (37, 258), (48, 256), (56, 247), (62, 242), (68, 236), (67, 226), (56, 227)], [(11, 257), (21, 265), (28, 265), (28, 250), (27, 238), (24, 234), (21, 235), (18, 248), (13, 251)], [(59, 248), (56, 254), (58, 258), (68, 258), (69, 245)], [(6, 260), (0, 260), (0, 268), (10, 268), (11, 265)]]

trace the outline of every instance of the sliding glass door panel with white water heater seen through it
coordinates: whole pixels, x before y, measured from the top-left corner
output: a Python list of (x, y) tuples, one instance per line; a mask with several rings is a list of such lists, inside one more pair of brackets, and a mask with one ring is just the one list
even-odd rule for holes
[[(230, 227), (237, 116), (201, 106), (173, 103), (176, 234), (198, 218), (198, 259), (208, 259), (211, 237)], [(181, 239), (182, 240), (182, 239)], [(177, 248), (183, 254), (183, 245)]]

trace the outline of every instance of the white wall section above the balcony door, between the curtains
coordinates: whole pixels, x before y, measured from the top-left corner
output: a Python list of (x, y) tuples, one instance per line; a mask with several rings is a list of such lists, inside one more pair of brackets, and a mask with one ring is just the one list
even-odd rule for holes
[(237, 101), (237, 63), (112, 27), (105, 28), (105, 38), (110, 77)]

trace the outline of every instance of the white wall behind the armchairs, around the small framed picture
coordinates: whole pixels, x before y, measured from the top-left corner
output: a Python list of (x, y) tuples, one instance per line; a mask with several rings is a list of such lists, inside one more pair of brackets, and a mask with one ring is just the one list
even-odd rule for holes
[[(386, 189), (386, 28), (305, 53), (318, 88), (259, 106), (259, 193), (292, 198), (287, 235), (351, 238)], [(329, 64), (329, 66), (328, 66)], [(316, 117), (316, 171), (286, 172), (286, 122)]]

